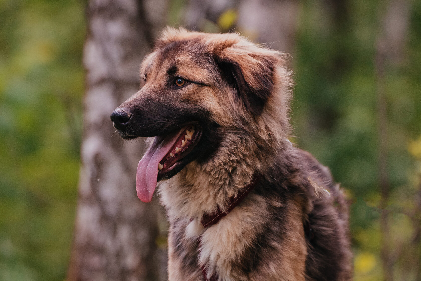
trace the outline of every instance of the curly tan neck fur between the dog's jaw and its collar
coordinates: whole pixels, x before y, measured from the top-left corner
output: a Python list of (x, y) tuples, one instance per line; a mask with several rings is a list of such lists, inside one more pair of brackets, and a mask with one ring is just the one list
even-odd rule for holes
[[(160, 184), (161, 203), (170, 221), (179, 218), (200, 221), (203, 214), (224, 209), (229, 198), (246, 187), (254, 174), (265, 171), (275, 161), (273, 153), (268, 155), (258, 148), (257, 137), (233, 132), (224, 139), (213, 158), (217, 161), (205, 164), (193, 161), (175, 177)], [(287, 139), (283, 139), (282, 144), (291, 146)]]

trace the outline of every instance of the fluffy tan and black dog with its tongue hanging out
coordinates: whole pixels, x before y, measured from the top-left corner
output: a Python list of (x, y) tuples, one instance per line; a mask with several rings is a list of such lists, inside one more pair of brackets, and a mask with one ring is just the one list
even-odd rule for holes
[(124, 139), (152, 137), (136, 191), (150, 202), (160, 183), (170, 281), (352, 280), (344, 195), (288, 140), (287, 63), (236, 33), (167, 28), (112, 112)]

